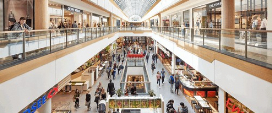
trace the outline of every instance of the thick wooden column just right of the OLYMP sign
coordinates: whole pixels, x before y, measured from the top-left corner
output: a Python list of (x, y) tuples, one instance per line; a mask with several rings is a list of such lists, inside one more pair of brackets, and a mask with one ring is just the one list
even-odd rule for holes
[[(234, 4), (234, 0), (222, 0), (222, 29), (235, 28)], [(227, 51), (234, 51), (234, 42), (234, 31), (223, 30), (221, 35), (221, 48)]]

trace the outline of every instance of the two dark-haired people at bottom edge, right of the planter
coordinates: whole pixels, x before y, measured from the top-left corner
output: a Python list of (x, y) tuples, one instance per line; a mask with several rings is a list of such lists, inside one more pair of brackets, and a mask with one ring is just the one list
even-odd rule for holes
[(166, 112), (167, 113), (188, 113), (188, 107), (186, 107), (184, 105), (184, 103), (180, 103), (180, 107), (178, 107), (178, 110), (176, 111), (174, 108), (174, 100), (171, 99), (168, 101), (168, 103), (166, 104)]

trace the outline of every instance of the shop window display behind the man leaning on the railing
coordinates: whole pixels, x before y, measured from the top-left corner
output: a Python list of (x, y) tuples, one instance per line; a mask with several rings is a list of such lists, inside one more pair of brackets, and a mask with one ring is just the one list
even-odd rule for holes
[(4, 0), (4, 30), (25, 17), (26, 24), (33, 28), (33, 0)]

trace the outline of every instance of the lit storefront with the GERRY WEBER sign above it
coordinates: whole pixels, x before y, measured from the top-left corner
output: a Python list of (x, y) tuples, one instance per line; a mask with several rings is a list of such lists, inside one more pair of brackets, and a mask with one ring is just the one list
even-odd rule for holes
[(82, 14), (82, 10), (64, 5), (64, 26), (71, 28), (74, 21), (82, 25)]

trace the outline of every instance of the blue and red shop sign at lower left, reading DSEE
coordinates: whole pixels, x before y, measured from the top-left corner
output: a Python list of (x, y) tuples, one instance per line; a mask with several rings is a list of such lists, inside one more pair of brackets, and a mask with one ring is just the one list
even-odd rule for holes
[(24, 108), (19, 113), (35, 113), (39, 108), (41, 108), (46, 103), (46, 100), (51, 99), (53, 96), (57, 94), (57, 92), (58, 92), (58, 84), (50, 88), (47, 92), (45, 92), (42, 96), (40, 96), (31, 104), (29, 104), (26, 108)]

